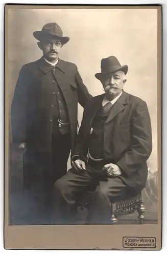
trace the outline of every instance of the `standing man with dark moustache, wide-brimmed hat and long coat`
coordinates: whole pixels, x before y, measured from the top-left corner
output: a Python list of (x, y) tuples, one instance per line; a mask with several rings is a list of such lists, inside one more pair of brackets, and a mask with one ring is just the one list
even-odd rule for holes
[(66, 173), (77, 134), (78, 102), (84, 107), (92, 96), (76, 65), (58, 57), (69, 40), (59, 25), (46, 24), (33, 35), (43, 56), (19, 73), (11, 106), (12, 135), (23, 152), (24, 187), (48, 196)]

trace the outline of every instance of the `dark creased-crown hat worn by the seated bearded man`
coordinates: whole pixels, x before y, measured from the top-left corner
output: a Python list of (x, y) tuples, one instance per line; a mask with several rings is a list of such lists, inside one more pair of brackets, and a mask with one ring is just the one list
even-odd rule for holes
[(128, 72), (128, 66), (121, 66), (120, 62), (117, 60), (115, 56), (109, 56), (108, 58), (104, 58), (101, 60), (101, 73), (95, 74), (97, 79), (101, 79), (104, 75), (108, 73), (113, 73), (115, 71), (122, 70), (125, 75)]

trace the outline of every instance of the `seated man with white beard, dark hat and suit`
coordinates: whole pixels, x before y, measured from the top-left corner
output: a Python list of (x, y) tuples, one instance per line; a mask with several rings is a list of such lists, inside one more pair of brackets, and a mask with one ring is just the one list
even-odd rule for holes
[(55, 224), (70, 223), (74, 206), (94, 182), (94, 224), (109, 224), (111, 202), (145, 187), (152, 152), (150, 115), (145, 101), (123, 90), (127, 71), (114, 56), (101, 61), (95, 76), (105, 94), (84, 108), (71, 153), (73, 167), (55, 183)]

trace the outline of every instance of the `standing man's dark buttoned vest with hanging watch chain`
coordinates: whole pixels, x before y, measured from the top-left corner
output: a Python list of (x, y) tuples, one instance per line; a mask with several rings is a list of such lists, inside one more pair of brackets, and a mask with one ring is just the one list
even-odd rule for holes
[[(51, 102), (51, 108), (53, 109), (53, 112), (54, 112), (53, 113), (53, 134), (57, 134), (59, 131), (61, 132), (61, 134), (66, 134), (70, 132), (68, 110), (67, 110), (65, 99), (53, 75), (53, 72), (54, 72), (54, 67), (50, 71), (52, 94), (55, 96), (53, 97), (53, 102)], [(60, 121), (60, 123), (58, 120)], [(65, 123), (68, 123), (68, 124), (65, 124)]]

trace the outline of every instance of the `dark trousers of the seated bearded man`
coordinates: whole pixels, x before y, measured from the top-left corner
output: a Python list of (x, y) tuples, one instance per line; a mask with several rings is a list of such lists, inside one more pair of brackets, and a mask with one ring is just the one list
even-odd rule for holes
[(127, 186), (120, 177), (108, 178), (90, 165), (86, 170), (68, 170), (54, 185), (55, 224), (70, 224), (75, 207), (90, 185), (96, 185), (91, 206), (92, 224), (110, 223), (111, 202), (126, 198)]

